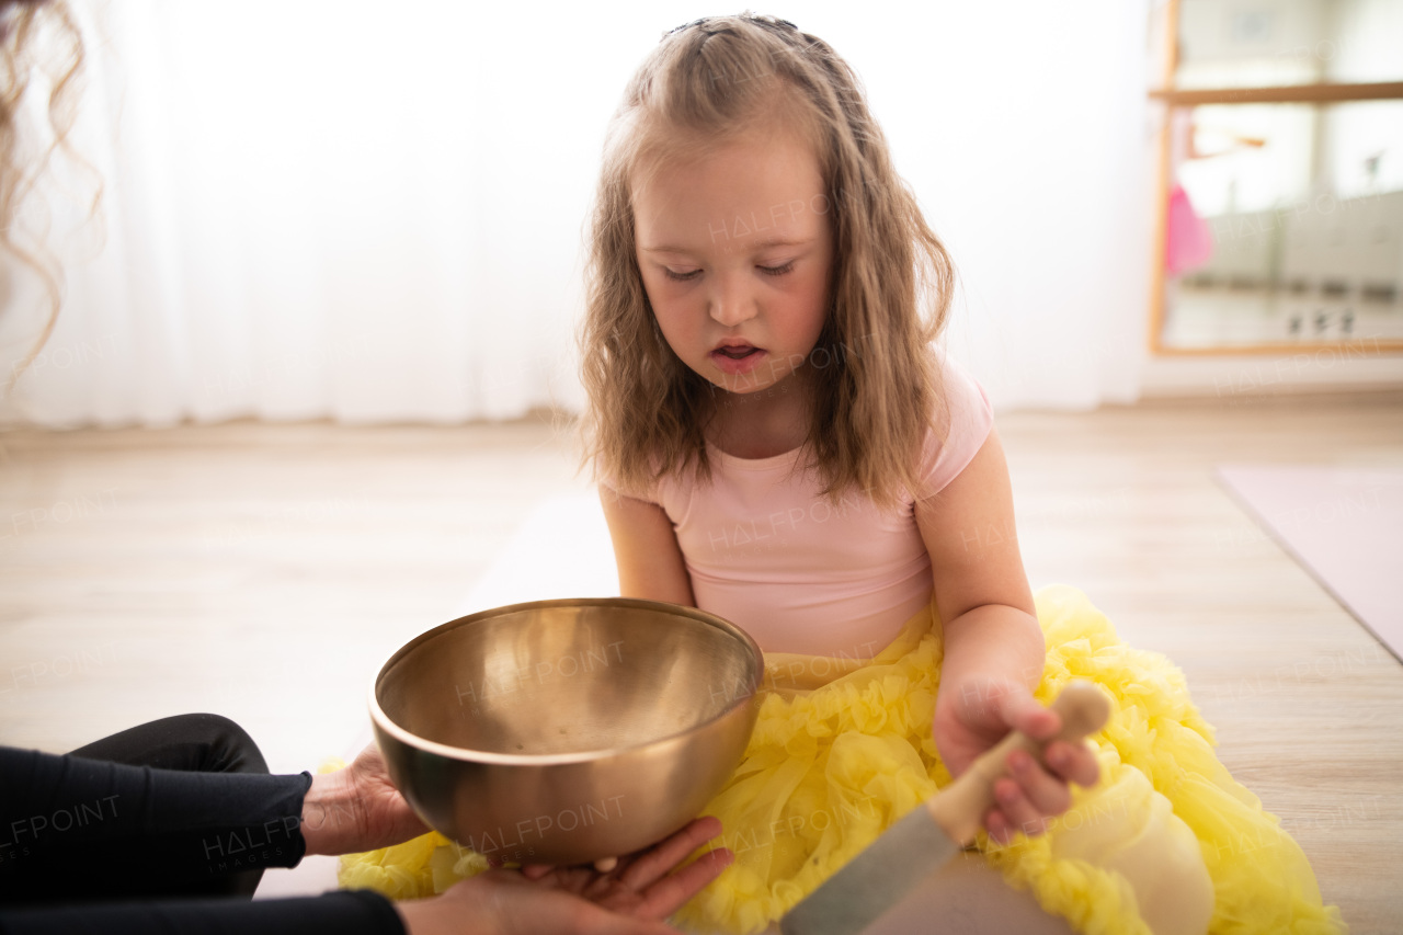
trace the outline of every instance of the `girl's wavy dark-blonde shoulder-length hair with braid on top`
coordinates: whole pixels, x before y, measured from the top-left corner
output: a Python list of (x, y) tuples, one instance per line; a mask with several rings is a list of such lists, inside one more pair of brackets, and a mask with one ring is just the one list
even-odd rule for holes
[(624, 493), (669, 472), (710, 479), (704, 428), (716, 389), (668, 347), (634, 253), (631, 185), (672, 159), (745, 138), (781, 112), (811, 146), (833, 232), (831, 307), (810, 355), (807, 444), (824, 493), (857, 489), (892, 505), (919, 491), (927, 430), (948, 414), (932, 343), (954, 270), (892, 167), (864, 88), (822, 39), (773, 17), (709, 17), (665, 34), (624, 90), (606, 133), (591, 218), (578, 344), (588, 407), (584, 462)]

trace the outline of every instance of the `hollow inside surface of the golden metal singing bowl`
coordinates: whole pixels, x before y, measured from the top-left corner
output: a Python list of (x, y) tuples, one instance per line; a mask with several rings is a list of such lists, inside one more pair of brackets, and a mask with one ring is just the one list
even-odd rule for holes
[(607, 752), (713, 720), (759, 671), (755, 644), (704, 614), (550, 601), (431, 632), (380, 674), (376, 701), (404, 730), (464, 751)]

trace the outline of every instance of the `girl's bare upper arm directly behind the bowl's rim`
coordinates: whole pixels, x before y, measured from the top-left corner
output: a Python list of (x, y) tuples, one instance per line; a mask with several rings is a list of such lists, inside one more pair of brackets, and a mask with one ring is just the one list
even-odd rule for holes
[(619, 594), (696, 606), (678, 536), (662, 507), (626, 497), (603, 484), (599, 486), (599, 503), (619, 563)]

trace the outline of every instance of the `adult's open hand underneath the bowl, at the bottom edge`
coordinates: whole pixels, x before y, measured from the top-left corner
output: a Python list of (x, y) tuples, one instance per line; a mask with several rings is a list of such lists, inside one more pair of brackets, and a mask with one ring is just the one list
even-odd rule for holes
[(720, 876), (725, 848), (672, 870), (721, 833), (697, 818), (671, 838), (619, 859), (609, 873), (591, 866), (495, 869), (456, 883), (442, 896), (396, 904), (410, 935), (664, 935), (662, 920)]

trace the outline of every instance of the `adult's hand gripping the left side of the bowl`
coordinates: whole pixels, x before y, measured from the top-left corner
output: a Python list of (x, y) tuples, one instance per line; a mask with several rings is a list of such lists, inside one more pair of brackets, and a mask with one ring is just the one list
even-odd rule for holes
[(345, 769), (313, 776), (302, 800), (307, 854), (359, 854), (408, 841), (428, 830), (390, 782), (375, 744)]

